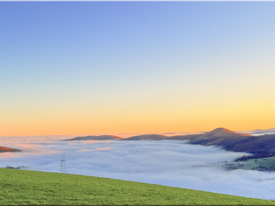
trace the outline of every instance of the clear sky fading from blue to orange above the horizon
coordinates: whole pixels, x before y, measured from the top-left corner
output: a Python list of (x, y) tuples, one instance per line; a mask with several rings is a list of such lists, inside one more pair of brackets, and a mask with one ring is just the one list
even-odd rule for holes
[(275, 127), (275, 2), (0, 2), (0, 136)]

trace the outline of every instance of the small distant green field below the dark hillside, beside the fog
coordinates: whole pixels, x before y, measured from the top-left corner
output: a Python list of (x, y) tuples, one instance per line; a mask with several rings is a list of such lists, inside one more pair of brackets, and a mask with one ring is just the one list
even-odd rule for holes
[(261, 168), (261, 167), (272, 169), (275, 167), (275, 157), (248, 159), (245, 161), (228, 163), (226, 166), (231, 168), (243, 169), (243, 170), (252, 170), (253, 168)]

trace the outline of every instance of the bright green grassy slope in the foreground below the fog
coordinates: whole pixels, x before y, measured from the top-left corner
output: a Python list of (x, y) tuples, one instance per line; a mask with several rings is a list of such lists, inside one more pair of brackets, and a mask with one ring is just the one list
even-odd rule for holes
[(0, 204), (275, 205), (275, 202), (95, 176), (1, 168)]

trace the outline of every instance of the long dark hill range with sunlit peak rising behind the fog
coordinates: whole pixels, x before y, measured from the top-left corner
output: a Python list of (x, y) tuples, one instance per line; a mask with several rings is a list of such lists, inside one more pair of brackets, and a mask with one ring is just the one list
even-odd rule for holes
[[(270, 129), (268, 131), (273, 131)], [(254, 130), (259, 132), (260, 130)], [(261, 130), (261, 132), (267, 130)], [(255, 133), (256, 133), (255, 132)], [(107, 140), (118, 139), (120, 141), (140, 141), (140, 140), (187, 140), (187, 144), (200, 144), (203, 146), (220, 146), (225, 150), (233, 152), (252, 153), (251, 157), (243, 157), (243, 159), (258, 157), (275, 157), (275, 134), (253, 136), (244, 133), (236, 133), (225, 128), (216, 128), (210, 132), (195, 135), (175, 135), (168, 137), (166, 135), (137, 135), (134, 137), (121, 138), (112, 135), (75, 137), (65, 139), (63, 141), (79, 141), (79, 140)]]

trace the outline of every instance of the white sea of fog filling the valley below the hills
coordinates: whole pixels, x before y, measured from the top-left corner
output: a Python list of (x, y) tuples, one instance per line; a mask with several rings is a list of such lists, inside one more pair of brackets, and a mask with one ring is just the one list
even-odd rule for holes
[(1, 146), (24, 150), (0, 153), (0, 167), (66, 172), (184, 187), (252, 198), (275, 199), (275, 172), (226, 171), (215, 164), (247, 155), (184, 141), (59, 141), (70, 137), (0, 137)]

